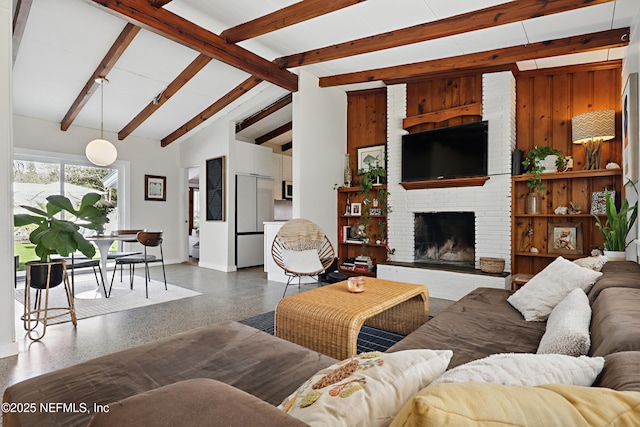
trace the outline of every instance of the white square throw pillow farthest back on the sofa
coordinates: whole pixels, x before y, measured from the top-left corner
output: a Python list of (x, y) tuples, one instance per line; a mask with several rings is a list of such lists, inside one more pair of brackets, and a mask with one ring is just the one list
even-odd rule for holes
[(544, 321), (569, 292), (575, 288), (588, 292), (601, 276), (602, 273), (598, 271), (558, 257), (507, 301), (522, 313), (525, 320)]

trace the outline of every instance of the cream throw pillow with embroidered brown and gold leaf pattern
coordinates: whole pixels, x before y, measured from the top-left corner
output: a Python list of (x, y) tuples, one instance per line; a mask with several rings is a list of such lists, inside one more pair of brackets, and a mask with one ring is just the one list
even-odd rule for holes
[(451, 350), (362, 353), (318, 372), (278, 408), (311, 426), (387, 426), (451, 356)]

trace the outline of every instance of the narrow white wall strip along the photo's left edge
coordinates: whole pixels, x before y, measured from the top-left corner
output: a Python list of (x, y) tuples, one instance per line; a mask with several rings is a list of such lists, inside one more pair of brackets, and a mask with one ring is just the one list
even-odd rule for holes
[(11, 144), (11, 1), (0, 0), (0, 358), (18, 354), (13, 300), (13, 188)]

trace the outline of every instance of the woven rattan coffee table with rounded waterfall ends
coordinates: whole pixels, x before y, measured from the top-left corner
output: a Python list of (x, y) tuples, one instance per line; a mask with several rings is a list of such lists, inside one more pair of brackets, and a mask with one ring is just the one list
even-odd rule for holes
[(367, 277), (361, 293), (349, 292), (344, 281), (281, 299), (275, 335), (346, 359), (357, 352), (363, 324), (407, 335), (428, 318), (426, 286)]

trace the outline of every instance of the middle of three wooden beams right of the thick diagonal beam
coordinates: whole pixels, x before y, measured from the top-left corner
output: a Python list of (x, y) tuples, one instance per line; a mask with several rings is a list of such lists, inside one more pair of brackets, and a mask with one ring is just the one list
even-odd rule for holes
[(274, 62), (282, 68), (316, 64), (318, 62), (434, 40), (459, 33), (495, 27), (497, 25), (552, 15), (611, 1), (612, 0), (514, 0), (438, 21), (426, 22), (424, 24), (313, 49), (307, 52), (283, 56)]

